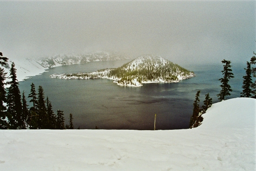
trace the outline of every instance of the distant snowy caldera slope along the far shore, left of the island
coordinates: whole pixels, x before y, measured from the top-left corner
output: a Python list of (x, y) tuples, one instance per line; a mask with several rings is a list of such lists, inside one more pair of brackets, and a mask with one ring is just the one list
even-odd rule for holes
[(15, 68), (17, 70), (17, 79), (22, 81), (23, 79), (28, 78), (29, 76), (36, 76), (43, 72), (46, 69), (51, 67), (56, 67), (60, 65), (69, 65), (76, 63), (88, 63), (91, 61), (112, 61), (112, 60), (124, 60), (128, 59), (125, 55), (113, 52), (95, 52), (89, 54), (80, 54), (80, 55), (56, 55), (43, 57), (38, 59), (12, 59), (10, 58), (6, 66), (5, 72), (9, 72), (9, 66), (14, 62)]

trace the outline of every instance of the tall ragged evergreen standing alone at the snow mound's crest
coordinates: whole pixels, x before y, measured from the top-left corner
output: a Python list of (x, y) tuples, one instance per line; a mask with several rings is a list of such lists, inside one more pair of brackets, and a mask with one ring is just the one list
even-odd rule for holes
[(226, 61), (225, 59), (223, 59), (222, 63), (225, 63), (225, 65), (223, 65), (223, 70), (222, 70), (222, 75), (223, 78), (219, 79), (220, 82), (222, 83), (220, 85), (220, 87), (222, 88), (222, 90), (220, 91), (219, 94), (217, 94), (217, 96), (219, 97), (220, 101), (226, 100), (226, 96), (230, 95), (230, 92), (232, 92), (233, 90), (231, 89), (230, 85), (229, 85), (229, 80), (230, 78), (234, 78), (234, 74), (231, 72), (232, 70), (230, 69), (231, 65), (230, 65), (230, 61)]

